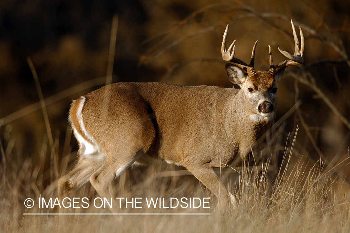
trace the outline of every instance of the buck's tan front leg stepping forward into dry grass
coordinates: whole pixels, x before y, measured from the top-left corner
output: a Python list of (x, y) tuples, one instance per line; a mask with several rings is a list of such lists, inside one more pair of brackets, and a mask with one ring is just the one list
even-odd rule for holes
[[(202, 165), (196, 167), (186, 167), (198, 180), (200, 180), (205, 187), (214, 192), (219, 199), (215, 212), (223, 210), (229, 204), (229, 193), (220, 182), (219, 177), (214, 172), (211, 166)], [(214, 211), (213, 211), (214, 213)]]

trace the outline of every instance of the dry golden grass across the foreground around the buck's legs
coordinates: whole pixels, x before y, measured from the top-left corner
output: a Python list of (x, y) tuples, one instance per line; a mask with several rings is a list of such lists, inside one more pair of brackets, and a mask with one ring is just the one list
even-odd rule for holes
[[(8, 148), (7, 145), (6, 148)], [(15, 154), (6, 162), (6, 174), (1, 173), (0, 226), (3, 232), (349, 232), (350, 203), (348, 196), (337, 193), (334, 170), (342, 163), (323, 167), (320, 161), (306, 169), (304, 163), (294, 163), (293, 141), (285, 147), (285, 169), (274, 171), (271, 166), (243, 166), (238, 173), (233, 168), (222, 171), (232, 193), (233, 202), (220, 214), (204, 215), (24, 215), (24, 213), (58, 213), (55, 208), (38, 208), (39, 197), (57, 197), (57, 180), (71, 165), (70, 159), (52, 158), (52, 166), (43, 170), (44, 157), (34, 166), (29, 159), (21, 161)], [(43, 148), (45, 150), (45, 148)], [(272, 150), (272, 149), (271, 149)], [(12, 152), (3, 150), (3, 153)], [(65, 164), (65, 163), (66, 164)], [(272, 171), (271, 171), (272, 170)], [(60, 172), (57, 172), (60, 171)], [(271, 174), (278, 172), (271, 186)], [(182, 175), (181, 175), (182, 174)], [(184, 175), (183, 175), (184, 174)], [(236, 181), (236, 182), (235, 182)], [(234, 188), (236, 186), (239, 188)], [(173, 166), (134, 167), (124, 172), (114, 183), (118, 197), (212, 197), (193, 176)], [(26, 198), (36, 205), (28, 209)], [(76, 197), (98, 197), (90, 184), (84, 185)], [(217, 199), (210, 199), (210, 209), (182, 208), (121, 208), (121, 213), (210, 213)], [(167, 205), (165, 205), (167, 206)], [(75, 209), (70, 213), (110, 213), (108, 208)]]

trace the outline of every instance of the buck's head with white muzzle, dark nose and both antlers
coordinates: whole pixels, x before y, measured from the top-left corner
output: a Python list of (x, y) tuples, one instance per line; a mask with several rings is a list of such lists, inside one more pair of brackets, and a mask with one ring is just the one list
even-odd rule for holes
[[(226, 36), (229, 25), (226, 26), (226, 30), (223, 36), (221, 53), (222, 58), (225, 61), (231, 61), (233, 64), (226, 64), (226, 74), (232, 83), (237, 84), (245, 100), (245, 106), (252, 112), (250, 115), (254, 121), (271, 121), (275, 116), (275, 109), (277, 104), (277, 83), (283, 76), (287, 66), (299, 65), (303, 63), (303, 51), (304, 51), (304, 37), (300, 29), (301, 47), (299, 50), (299, 40), (296, 36), (293, 21), (292, 29), (295, 42), (294, 55), (288, 52), (278, 50), (288, 59), (283, 60), (278, 65), (273, 65), (271, 47), (269, 48), (269, 64), (270, 68), (266, 71), (255, 71), (254, 69), (254, 56), (255, 47), (258, 43), (255, 42), (252, 50), (252, 57), (250, 63), (246, 64), (244, 61), (235, 58), (235, 41), (232, 42), (229, 49), (226, 49)], [(242, 96), (241, 96), (242, 97)]]

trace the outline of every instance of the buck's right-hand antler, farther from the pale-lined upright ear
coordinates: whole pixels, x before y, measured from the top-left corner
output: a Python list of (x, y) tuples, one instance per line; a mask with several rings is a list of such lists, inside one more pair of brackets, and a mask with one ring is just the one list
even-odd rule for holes
[(272, 74), (272, 76), (274, 76), (279, 70), (285, 69), (287, 66), (300, 65), (304, 61), (304, 59), (303, 59), (303, 53), (304, 53), (304, 36), (303, 36), (303, 32), (301, 31), (301, 28), (299, 27), (299, 30), (300, 30), (300, 41), (301, 41), (300, 50), (299, 50), (299, 40), (298, 40), (298, 37), (296, 36), (294, 24), (293, 24), (292, 20), (290, 20), (290, 22), (292, 22), (293, 36), (294, 36), (294, 42), (295, 42), (294, 55), (292, 55), (292, 54), (290, 54), (290, 53), (288, 53), (286, 51), (282, 51), (282, 50), (280, 50), (280, 48), (278, 48), (278, 50), (285, 57), (287, 57), (289, 60), (284, 60), (281, 63), (279, 63), (278, 65), (274, 66), (273, 65), (273, 61), (272, 61), (271, 47), (269, 45), (268, 46), (268, 52), (270, 54), (270, 69), (268, 70), (268, 73)]

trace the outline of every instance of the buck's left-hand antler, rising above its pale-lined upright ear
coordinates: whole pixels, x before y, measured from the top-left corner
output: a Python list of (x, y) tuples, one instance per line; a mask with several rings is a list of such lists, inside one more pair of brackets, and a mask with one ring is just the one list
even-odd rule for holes
[(224, 36), (222, 38), (222, 45), (221, 45), (221, 54), (222, 54), (222, 59), (225, 61), (231, 61), (232, 63), (235, 63), (236, 66), (242, 68), (244, 71), (247, 72), (249, 76), (253, 76), (256, 74), (255, 69), (254, 69), (254, 56), (255, 56), (255, 47), (257, 46), (257, 42), (255, 42), (253, 46), (253, 51), (252, 51), (252, 58), (250, 59), (249, 65), (246, 64), (244, 61), (233, 57), (235, 55), (235, 41), (232, 42), (230, 45), (229, 49), (226, 49), (226, 36), (227, 36), (227, 31), (229, 29), (229, 24), (226, 26), (226, 30), (224, 32)]

